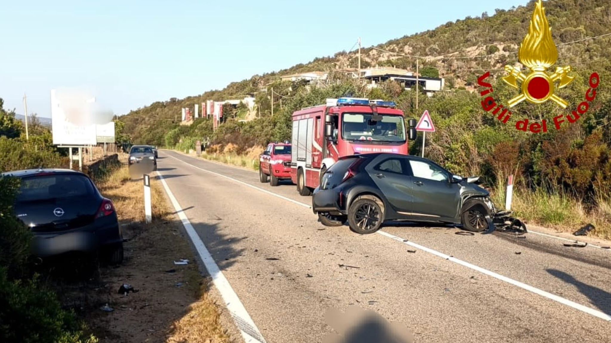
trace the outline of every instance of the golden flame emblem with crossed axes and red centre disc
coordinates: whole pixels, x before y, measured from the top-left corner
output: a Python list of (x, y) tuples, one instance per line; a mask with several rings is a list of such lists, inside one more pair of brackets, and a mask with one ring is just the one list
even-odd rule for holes
[[(519, 68), (511, 65), (505, 66), (508, 75), (503, 77), (508, 85), (522, 90), (522, 93), (511, 99), (509, 107), (514, 107), (524, 100), (533, 104), (543, 104), (552, 100), (559, 106), (566, 108), (568, 103), (554, 94), (556, 88), (564, 88), (573, 82), (574, 76), (569, 76), (571, 67), (558, 67), (553, 74), (547, 73), (558, 60), (558, 49), (552, 38), (552, 29), (547, 23), (545, 7), (539, 0), (535, 5), (535, 12), (530, 20), (529, 33), (518, 50), (519, 61), (530, 69), (530, 74), (523, 74)], [(518, 87), (518, 81), (522, 87)], [(558, 86), (555, 82), (560, 81)]]

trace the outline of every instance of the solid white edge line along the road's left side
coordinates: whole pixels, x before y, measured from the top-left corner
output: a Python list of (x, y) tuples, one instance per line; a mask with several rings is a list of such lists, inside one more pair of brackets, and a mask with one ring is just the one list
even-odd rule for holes
[(257, 325), (255, 325), (255, 322), (246, 311), (246, 308), (244, 308), (240, 298), (238, 298), (238, 295), (235, 293), (235, 291), (233, 291), (233, 288), (229, 284), (229, 281), (227, 281), (227, 278), (225, 278), (225, 275), (223, 275), (221, 272), (221, 269), (219, 269), (219, 266), (216, 264), (216, 262), (214, 262), (214, 258), (212, 255), (210, 255), (210, 251), (208, 251), (206, 246), (203, 244), (202, 239), (200, 239), (199, 235), (195, 231), (195, 228), (193, 228), (193, 225), (191, 225), (191, 222), (189, 222), (189, 219), (185, 215), (185, 212), (183, 212), (180, 204), (178, 204), (178, 200), (176, 200), (174, 197), (170, 187), (167, 186), (166, 179), (163, 178), (163, 175), (161, 175), (159, 171), (157, 171), (157, 175), (159, 176), (159, 179), (161, 179), (161, 183), (166, 190), (167, 196), (172, 202), (172, 206), (174, 206), (174, 209), (177, 212), (178, 218), (180, 218), (183, 226), (185, 226), (185, 230), (187, 231), (191, 242), (193, 242), (193, 245), (195, 245), (199, 257), (202, 259), (208, 273), (210, 273), (214, 286), (221, 293), (221, 296), (225, 301), (225, 306), (227, 306), (227, 310), (230, 312), (233, 320), (235, 320), (235, 324), (238, 327), (238, 330), (240, 330), (244, 341), (246, 343), (266, 343), (261, 332), (257, 328)]

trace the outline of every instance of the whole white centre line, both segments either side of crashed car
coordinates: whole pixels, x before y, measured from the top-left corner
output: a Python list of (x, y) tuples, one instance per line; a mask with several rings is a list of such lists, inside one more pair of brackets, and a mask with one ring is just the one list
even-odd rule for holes
[[(174, 156), (170, 156), (170, 157), (172, 157), (174, 159), (177, 159)], [(177, 159), (177, 160), (181, 161), (180, 159)], [(188, 162), (185, 162), (185, 161), (181, 161), (181, 162), (183, 162), (185, 164), (188, 164), (188, 165), (191, 165), (191, 164), (189, 164)], [(229, 176), (225, 176), (225, 175), (221, 175), (221, 174), (218, 174), (218, 173), (214, 173), (212, 171), (208, 171), (208, 170), (196, 167), (194, 165), (191, 165), (191, 167), (195, 167), (195, 168), (198, 168), (200, 170), (207, 171), (208, 173), (211, 173), (211, 174), (214, 174), (214, 175), (222, 176), (223, 178), (227, 178), (227, 179), (233, 180), (235, 182), (238, 182), (240, 184), (244, 184), (246, 186), (249, 186), (249, 187), (252, 187), (254, 189), (260, 190), (262, 192), (268, 193), (268, 194), (273, 195), (275, 197), (282, 198), (282, 199), (291, 201), (291, 202), (296, 203), (296, 204), (300, 204), (301, 206), (304, 206), (304, 207), (307, 207), (307, 208), (312, 208), (312, 206), (309, 206), (307, 204), (300, 203), (299, 201), (295, 201), (293, 199), (289, 199), (289, 198), (283, 197), (282, 195), (278, 195), (276, 193), (269, 192), (268, 190), (265, 190), (265, 189), (260, 189), (258, 187), (252, 186), (251, 184), (247, 184), (246, 182), (230, 178)], [(496, 278), (497, 280), (504, 281), (506, 283), (512, 284), (513, 286), (520, 287), (522, 289), (525, 289), (526, 291), (533, 292), (533, 293), (535, 293), (537, 295), (541, 295), (541, 297), (545, 297), (545, 298), (548, 298), (550, 300), (557, 301), (558, 303), (561, 303), (563, 305), (566, 305), (566, 306), (569, 306), (571, 308), (577, 309), (579, 311), (585, 312), (587, 314), (590, 314), (591, 316), (595, 316), (595, 317), (598, 317), (600, 319), (607, 320), (608, 322), (611, 322), (611, 316), (609, 316), (608, 314), (605, 314), (605, 313), (603, 313), (601, 311), (597, 311), (596, 309), (589, 308), (587, 306), (581, 305), (579, 303), (576, 303), (574, 301), (565, 299), (563, 297), (558, 297), (558, 295), (551, 294), (549, 292), (543, 291), (542, 289), (538, 289), (536, 287), (530, 286), (530, 285), (525, 284), (525, 283), (521, 283), (520, 281), (516, 281), (516, 280), (513, 280), (511, 278), (508, 278), (507, 276), (503, 276), (503, 275), (497, 274), (497, 273), (492, 272), (492, 271), (490, 271), (488, 269), (483, 269), (482, 267), (478, 267), (477, 265), (470, 264), (469, 262), (465, 262), (465, 261), (463, 261), (461, 259), (457, 259), (457, 258), (454, 258), (452, 256), (445, 255), (444, 253), (441, 253), (439, 251), (433, 250), (431, 248), (424, 247), (423, 245), (419, 245), (419, 244), (416, 244), (416, 243), (411, 242), (411, 241), (404, 242), (403, 238), (394, 236), (394, 235), (389, 234), (389, 233), (386, 233), (385, 231), (378, 231), (377, 233), (381, 234), (382, 236), (385, 236), (387, 238), (396, 240), (397, 242), (410, 245), (411, 247), (414, 247), (414, 248), (420, 249), (422, 251), (425, 251), (427, 253), (430, 253), (432, 255), (435, 255), (435, 256), (437, 256), (439, 258), (446, 259), (447, 261), (451, 261), (451, 262), (454, 262), (456, 264), (463, 265), (463, 267), (467, 267), (469, 269), (476, 270), (477, 272), (483, 273), (485, 275), (492, 276), (493, 278)]]

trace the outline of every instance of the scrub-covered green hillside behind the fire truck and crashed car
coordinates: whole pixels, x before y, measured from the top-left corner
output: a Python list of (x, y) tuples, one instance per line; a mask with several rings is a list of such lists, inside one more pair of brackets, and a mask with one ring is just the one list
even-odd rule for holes
[[(362, 49), (362, 67), (389, 65), (415, 71), (416, 58), (422, 74), (442, 76), (447, 92), (432, 98), (425, 95), (415, 103), (415, 92), (386, 82), (379, 88), (366, 87), (347, 79), (338, 71), (356, 67), (355, 52), (338, 52), (275, 73), (255, 75), (185, 99), (159, 101), (120, 117), (124, 132), (135, 143), (150, 143), (181, 150), (193, 149), (197, 139), (209, 138), (213, 151), (251, 153), (254, 146), (270, 140), (290, 138), (290, 114), (305, 106), (324, 103), (325, 98), (366, 96), (392, 99), (406, 115), (417, 118), (424, 109), (433, 117), (437, 132), (426, 136), (425, 156), (461, 175), (481, 175), (494, 189), (497, 203), (504, 203), (502, 190), (507, 176), (516, 175), (518, 193), (515, 206), (530, 220), (575, 228), (586, 220), (598, 225), (599, 234), (611, 221), (611, 0), (550, 0), (544, 2), (552, 35), (558, 46), (555, 67), (571, 65), (576, 76), (569, 87), (557, 94), (569, 102), (567, 109), (549, 101), (541, 106), (526, 102), (512, 109), (507, 123), (482, 109), (478, 77), (491, 71), (486, 81), (494, 88), (498, 103), (507, 104), (518, 91), (501, 81), (503, 67), (518, 62), (519, 44), (528, 32), (535, 1), (512, 10), (481, 13), (474, 18), (447, 23), (434, 30), (406, 36)], [(598, 37), (601, 36), (602, 37)], [(596, 37), (596, 38), (591, 38)], [(419, 56), (419, 57), (417, 57)], [(280, 82), (279, 76), (305, 71), (329, 71), (327, 84), (307, 87)], [(565, 118), (561, 129), (554, 128), (554, 117), (570, 115), (585, 101), (590, 74), (597, 72), (601, 84), (597, 96), (574, 124)], [(274, 87), (274, 115), (271, 115), (270, 88)], [(477, 92), (475, 92), (477, 90)], [(193, 107), (207, 99), (223, 100), (255, 93), (260, 118), (240, 123), (229, 108), (224, 123), (212, 132), (210, 120), (199, 119), (191, 126), (180, 126), (181, 107)], [(280, 107), (282, 99), (282, 107)], [(516, 122), (545, 119), (546, 133), (516, 130)], [(422, 139), (410, 142), (410, 152), (419, 153)]]

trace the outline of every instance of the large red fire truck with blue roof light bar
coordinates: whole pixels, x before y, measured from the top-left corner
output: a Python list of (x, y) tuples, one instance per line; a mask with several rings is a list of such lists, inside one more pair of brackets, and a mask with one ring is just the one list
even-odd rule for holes
[(416, 121), (409, 120), (406, 130), (403, 111), (395, 107), (392, 101), (339, 98), (293, 113), (291, 180), (299, 194), (310, 195), (339, 157), (408, 154)]

